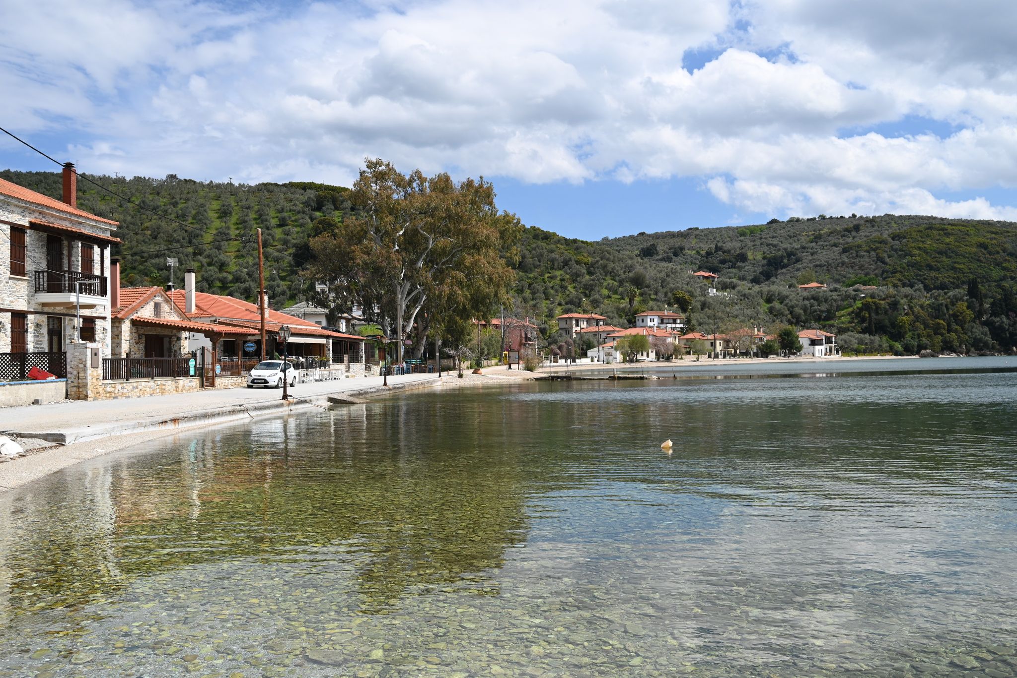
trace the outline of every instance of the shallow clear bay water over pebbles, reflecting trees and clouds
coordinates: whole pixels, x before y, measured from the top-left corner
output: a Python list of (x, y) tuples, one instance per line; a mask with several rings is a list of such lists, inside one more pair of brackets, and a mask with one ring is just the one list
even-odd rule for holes
[(1017, 675), (1014, 361), (843, 365), (73, 467), (0, 499), (0, 675)]

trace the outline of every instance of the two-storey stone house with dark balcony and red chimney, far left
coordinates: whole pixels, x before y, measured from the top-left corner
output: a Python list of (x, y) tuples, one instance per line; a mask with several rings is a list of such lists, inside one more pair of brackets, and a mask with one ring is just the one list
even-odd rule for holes
[[(73, 343), (95, 343), (109, 355), (110, 247), (117, 222), (77, 207), (77, 173), (63, 170), (61, 199), (0, 179), (0, 353), (53, 354), (52, 373), (65, 376)], [(47, 359), (48, 360), (48, 359)], [(22, 361), (23, 362), (23, 361)], [(57, 365), (57, 363), (60, 365)], [(23, 377), (0, 364), (0, 381)]]

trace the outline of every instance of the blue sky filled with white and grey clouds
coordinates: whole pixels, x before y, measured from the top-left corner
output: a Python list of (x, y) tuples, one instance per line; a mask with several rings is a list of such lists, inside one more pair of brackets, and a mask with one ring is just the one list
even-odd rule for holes
[[(82, 172), (484, 176), (596, 240), (1017, 221), (1017, 3), (0, 2), (0, 127)], [(0, 138), (0, 168), (54, 169)]]

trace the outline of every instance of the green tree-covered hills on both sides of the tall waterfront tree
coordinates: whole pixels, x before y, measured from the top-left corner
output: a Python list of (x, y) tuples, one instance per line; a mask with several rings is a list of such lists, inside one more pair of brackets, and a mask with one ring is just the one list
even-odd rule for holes
[[(0, 176), (60, 194), (57, 173)], [(326, 224), (315, 222), (342, 222), (351, 213), (348, 189), (312, 182), (247, 186), (172, 175), (89, 178), (190, 227), (80, 181), (80, 206), (121, 222), (125, 285), (166, 285), (165, 259), (173, 256), (178, 270), (199, 271), (200, 290), (253, 300), (254, 232), (261, 228), (265, 284), (277, 308), (310, 297), (308, 241)], [(194, 247), (152, 251), (183, 246)], [(1017, 225), (1006, 222), (821, 215), (597, 242), (529, 227), (518, 261), (510, 263), (517, 273), (512, 313), (536, 318), (555, 345), (559, 313), (596, 311), (612, 324), (630, 325), (637, 313), (666, 306), (687, 312), (692, 326), (704, 331), (758, 325), (775, 332), (788, 324), (827, 329), (846, 352), (993, 352), (1017, 346)], [(709, 286), (692, 275), (699, 269), (720, 275), (714, 284), (719, 295), (709, 296)], [(182, 272), (178, 286), (181, 281)], [(828, 288), (797, 288), (812, 282)]]

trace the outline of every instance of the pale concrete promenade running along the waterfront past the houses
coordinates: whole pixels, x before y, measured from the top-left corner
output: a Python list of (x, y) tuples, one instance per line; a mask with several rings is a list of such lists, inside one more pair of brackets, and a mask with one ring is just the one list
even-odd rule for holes
[[(446, 373), (442, 380), (448, 378)], [(302, 383), (289, 389), (294, 396), (289, 402), (282, 400), (282, 389), (224, 388), (119, 400), (64, 400), (2, 408), (0, 432), (70, 444), (111, 435), (249, 420), (257, 415), (327, 406), (328, 395), (399, 392), (431, 385), (426, 382), (437, 380), (436, 374), (392, 376), (388, 389), (381, 387), (379, 376)]]

